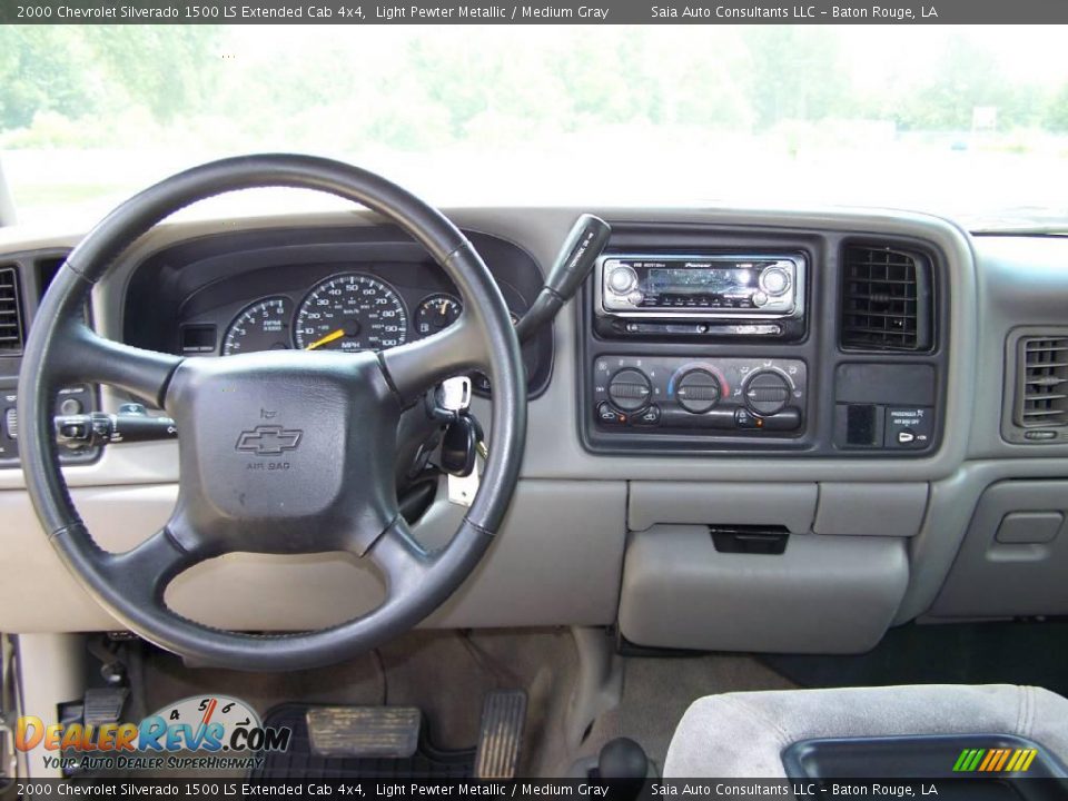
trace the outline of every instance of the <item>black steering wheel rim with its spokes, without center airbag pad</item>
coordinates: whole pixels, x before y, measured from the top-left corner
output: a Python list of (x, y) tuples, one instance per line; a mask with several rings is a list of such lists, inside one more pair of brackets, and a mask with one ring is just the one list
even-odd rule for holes
[[(190, 387), (211, 380), (218, 385), (212, 369), (222, 370), (226, 380), (253, 376), (260, 385), (274, 375), (266, 359), (253, 358), (261, 355), (215, 359), (228, 364), (231, 359), (245, 360), (233, 362), (234, 368), (212, 368), (205, 359), (181, 359), (102, 339), (80, 319), (92, 286), (156, 224), (198, 200), (264, 187), (315, 189), (368, 207), (423, 245), (463, 297), (461, 322), (441, 334), (377, 357), (354, 357), (344, 369), (338, 367), (340, 362), (324, 359), (315, 360), (313, 368), (322, 368), (328, 375), (329, 388), (336, 390), (343, 403), (346, 388), (363, 398), (363, 405), (346, 407), (346, 415), (354, 414), (353, 409), (374, 411), (386, 422), (437, 380), (473, 367), (488, 372), (494, 387), (491, 455), (471, 508), (449, 544), (439, 552), (423, 551), (411, 538), (403, 517), (387, 508), (386, 501), (376, 502), (383, 508), (367, 528), (369, 533), (356, 537), (355, 543), (327, 540), (327, 546), (319, 547), (323, 543), (309, 543), (308, 536), (300, 536), (295, 544), (291, 532), (279, 534), (278, 526), (271, 528), (265, 523), (263, 531), (268, 536), (259, 546), (222, 547), (234, 544), (233, 527), (222, 526), (222, 533), (214, 540), (200, 542), (194, 532), (197, 526), (186, 525), (189, 517), (179, 515), (126, 554), (102, 551), (75, 508), (55, 442), (52, 409), (59, 387), (75, 382), (111, 384), (166, 407), (168, 403), (180, 405), (185, 396), (192, 397)], [(309, 356), (313, 354), (294, 354), (289, 357), (291, 364), (275, 369), (289, 370), (279, 375), (303, 379), (307, 370), (293, 359)], [(373, 388), (366, 389), (369, 385)], [(145, 639), (198, 663), (244, 670), (287, 670), (337, 662), (370, 650), (423, 620), (459, 586), (492, 543), (518, 478), (525, 441), (526, 390), (518, 342), (496, 283), (473, 246), (441, 212), (400, 187), (350, 165), (306, 156), (261, 155), (214, 161), (168, 178), (119, 206), (75, 248), (53, 279), (27, 342), (19, 387), (27, 490), (50, 543), (68, 570), (97, 602)], [(192, 402), (189, 406), (197, 408)], [(196, 419), (190, 415), (191, 412), (187, 423), (192, 427)], [(345, 419), (345, 431), (353, 429), (350, 421)], [(325, 442), (329, 433), (322, 432), (319, 439)], [(382, 437), (376, 441), (376, 453), (383, 458), (386, 445), (378, 441)], [(375, 443), (368, 448), (374, 451)], [(200, 454), (184, 443), (180, 421), (179, 451), (184, 465), (187, 461), (199, 464), (196, 459)], [(364, 464), (367, 458), (353, 456), (354, 464), (347, 469), (363, 475), (369, 469)], [(350, 476), (348, 473), (339, 478)], [(186, 488), (182, 478), (178, 510), (184, 506)], [(191, 496), (209, 492), (204, 487), (195, 490), (190, 490)], [(378, 526), (384, 527), (375, 534)], [(374, 557), (386, 574), (387, 597), (368, 614), (329, 629), (264, 635), (227, 632), (190, 621), (164, 603), (164, 591), (178, 573), (219, 553), (305, 553), (340, 546), (352, 546), (358, 555)]]

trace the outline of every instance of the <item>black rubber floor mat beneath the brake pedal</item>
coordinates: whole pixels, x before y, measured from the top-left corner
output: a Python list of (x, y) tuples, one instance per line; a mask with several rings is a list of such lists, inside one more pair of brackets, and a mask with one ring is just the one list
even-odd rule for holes
[(352, 759), (318, 756), (308, 738), (307, 704), (275, 706), (264, 720), (265, 726), (293, 730), (289, 749), (263, 753), (264, 763), (249, 779), (466, 779), (474, 771), (475, 750), (443, 751), (433, 745), (427, 726), (419, 730), (419, 745), (406, 759)]

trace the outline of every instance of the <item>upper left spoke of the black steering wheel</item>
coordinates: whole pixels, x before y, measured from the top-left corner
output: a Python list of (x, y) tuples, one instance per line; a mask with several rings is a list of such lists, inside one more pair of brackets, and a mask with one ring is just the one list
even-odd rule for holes
[(109, 384), (162, 407), (180, 356), (106, 339), (81, 322), (69, 324), (57, 375), (68, 383)]

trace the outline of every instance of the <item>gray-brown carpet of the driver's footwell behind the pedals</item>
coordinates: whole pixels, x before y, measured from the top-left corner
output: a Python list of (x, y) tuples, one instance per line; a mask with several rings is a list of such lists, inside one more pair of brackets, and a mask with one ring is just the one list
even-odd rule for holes
[[(574, 640), (566, 629), (455, 632), (418, 630), (378, 651), (305, 671), (244, 672), (190, 669), (156, 649), (146, 660), (144, 699), (132, 716), (202, 692), (233, 695), (263, 718), (279, 702), (403, 705), (423, 710), (433, 743), (474, 748), (484, 699), (523, 688), (530, 700), (520, 775), (542, 775), (565, 762), (563, 723), (575, 682)], [(506, 670), (505, 670), (506, 669)], [(447, 690), (443, 690), (447, 688)], [(551, 758), (546, 762), (543, 758)]]

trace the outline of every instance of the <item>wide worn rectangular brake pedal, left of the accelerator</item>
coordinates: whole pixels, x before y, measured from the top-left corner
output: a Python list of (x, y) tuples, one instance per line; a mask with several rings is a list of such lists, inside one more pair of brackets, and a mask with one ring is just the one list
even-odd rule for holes
[(415, 706), (313, 706), (306, 716), (319, 756), (407, 759), (419, 745)]

